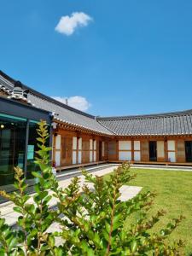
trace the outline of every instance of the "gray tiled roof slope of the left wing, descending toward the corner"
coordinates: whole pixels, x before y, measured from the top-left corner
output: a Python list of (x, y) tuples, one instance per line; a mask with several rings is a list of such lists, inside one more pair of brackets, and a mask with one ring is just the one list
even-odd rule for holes
[[(8, 90), (13, 90), (15, 80), (9, 78), (6, 74), (0, 71), (0, 84), (6, 87)], [(24, 85), (24, 88), (29, 89), (27, 96), (28, 102), (36, 108), (42, 108), (51, 113), (55, 112), (55, 118), (68, 123), (69, 125), (77, 125), (81, 128), (88, 129), (90, 131), (96, 131), (102, 134), (111, 135), (111, 131), (99, 124), (95, 117), (79, 111), (78, 109), (71, 108), (61, 102), (57, 102), (49, 96), (45, 96), (36, 90), (32, 90), (28, 86)]]

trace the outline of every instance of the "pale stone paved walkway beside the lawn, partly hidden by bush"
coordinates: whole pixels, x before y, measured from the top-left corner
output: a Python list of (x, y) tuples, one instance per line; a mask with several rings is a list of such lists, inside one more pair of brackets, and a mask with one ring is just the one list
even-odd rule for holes
[[(101, 170), (101, 168), (99, 168), (99, 170), (96, 170), (96, 171), (94, 171), (94, 169), (92, 168), (92, 171), (90, 169), (90, 172), (93, 175), (102, 176), (102, 175), (108, 174), (110, 172), (113, 172), (114, 167), (115, 167), (114, 165), (111, 165), (111, 166), (109, 165), (108, 167), (103, 166), (102, 170)], [(79, 175), (79, 177), (80, 177), (80, 184), (82, 186), (84, 183), (84, 177), (82, 175)], [(66, 173), (66, 178), (64, 178), (64, 175), (63, 175), (63, 179), (59, 180), (60, 186), (62, 188), (66, 188), (71, 183), (72, 178), (73, 178), (72, 176), (70, 177), (69, 174)], [(139, 191), (141, 189), (142, 189), (142, 187), (122, 186), (121, 200), (125, 201), (125, 200), (131, 199), (132, 197), (137, 195), (137, 193), (139, 193)], [(32, 197), (29, 199), (28, 202), (32, 203)], [(52, 198), (51, 201), (49, 201), (49, 207), (54, 207), (56, 205), (56, 203), (57, 203), (57, 200), (55, 198)], [(9, 225), (15, 225), (17, 218), (20, 216), (20, 213), (14, 212), (13, 207), (15, 207), (15, 206), (12, 202), (6, 202), (6, 203), (3, 203), (2, 205), (0, 205), (0, 212), (1, 212), (0, 217), (5, 218), (6, 223)]]

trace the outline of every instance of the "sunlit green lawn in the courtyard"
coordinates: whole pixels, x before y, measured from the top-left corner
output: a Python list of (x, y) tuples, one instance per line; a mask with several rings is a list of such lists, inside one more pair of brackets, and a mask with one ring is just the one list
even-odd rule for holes
[(142, 191), (157, 193), (149, 214), (159, 209), (167, 212), (160, 223), (155, 225), (155, 231), (180, 214), (186, 217), (177, 230), (173, 231), (170, 240), (185, 241), (185, 253), (192, 255), (192, 172), (131, 169), (131, 173), (136, 173), (137, 177), (129, 183), (130, 185), (141, 186)]

